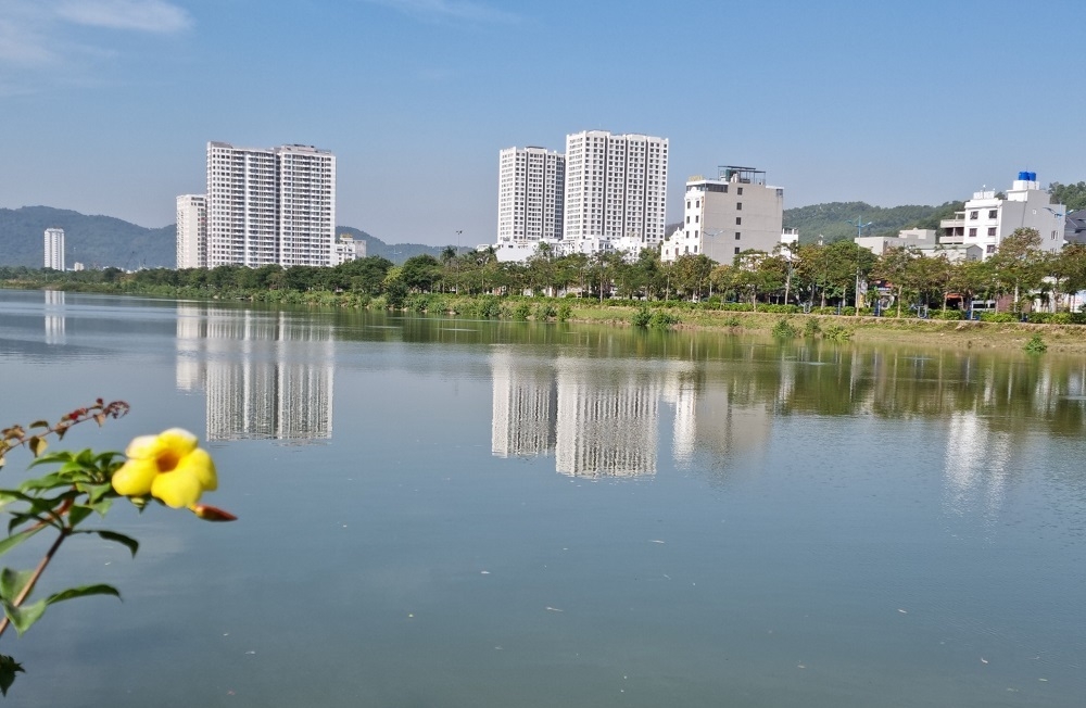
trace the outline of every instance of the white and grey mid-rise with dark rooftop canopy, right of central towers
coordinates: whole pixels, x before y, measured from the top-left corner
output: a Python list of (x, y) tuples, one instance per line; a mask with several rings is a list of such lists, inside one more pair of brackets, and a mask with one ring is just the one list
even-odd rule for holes
[(784, 190), (766, 184), (753, 167), (720, 167), (717, 179), (686, 180), (683, 223), (664, 243), (660, 257), (704, 254), (731, 264), (744, 251), (771, 253), (784, 233)]

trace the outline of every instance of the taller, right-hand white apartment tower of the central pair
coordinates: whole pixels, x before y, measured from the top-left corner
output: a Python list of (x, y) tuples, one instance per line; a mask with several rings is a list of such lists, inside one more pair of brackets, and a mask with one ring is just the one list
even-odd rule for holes
[(667, 138), (606, 130), (566, 136), (564, 240), (582, 252), (657, 248), (667, 182)]

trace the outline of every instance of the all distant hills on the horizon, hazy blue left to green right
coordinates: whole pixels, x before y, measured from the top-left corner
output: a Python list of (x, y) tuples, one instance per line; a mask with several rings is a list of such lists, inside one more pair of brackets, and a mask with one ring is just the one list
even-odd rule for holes
[[(830, 242), (855, 237), (857, 219), (860, 224), (870, 223), (863, 229), (864, 235), (896, 233), (902, 228), (938, 228), (939, 218), (952, 215), (956, 208), (961, 208), (961, 202), (894, 207), (833, 202), (785, 210), (784, 226), (798, 228), (804, 242), (813, 241), (819, 235)], [(177, 229), (174, 225), (155, 229), (112, 216), (88, 216), (51, 206), (23, 206), (0, 208), (0, 265), (40, 268), (47, 228), (64, 229), (65, 261), (70, 268), (77, 262), (88, 268), (173, 268), (176, 262)], [(336, 232), (366, 241), (367, 255), (380, 255), (396, 264), (422, 253), (440, 257), (445, 248), (422, 243), (389, 244), (350, 226), (339, 226)]]

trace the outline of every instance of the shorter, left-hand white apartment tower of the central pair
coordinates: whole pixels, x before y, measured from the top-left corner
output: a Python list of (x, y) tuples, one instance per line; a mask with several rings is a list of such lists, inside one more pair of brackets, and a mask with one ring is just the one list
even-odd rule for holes
[(545, 148), (498, 153), (497, 243), (561, 239), (566, 155)]

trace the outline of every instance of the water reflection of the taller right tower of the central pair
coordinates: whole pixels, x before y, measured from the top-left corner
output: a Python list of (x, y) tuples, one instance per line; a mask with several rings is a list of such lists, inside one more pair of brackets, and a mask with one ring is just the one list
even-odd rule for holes
[(558, 472), (574, 477), (656, 473), (661, 369), (558, 359)]

